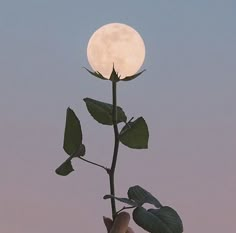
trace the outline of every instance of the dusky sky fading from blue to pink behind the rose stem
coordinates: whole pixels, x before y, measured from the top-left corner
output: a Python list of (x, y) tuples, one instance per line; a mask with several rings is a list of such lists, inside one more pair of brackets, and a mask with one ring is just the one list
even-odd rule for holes
[(177, 210), (184, 232), (234, 233), (235, 11), (234, 0), (1, 0), (0, 231), (105, 232), (107, 174), (78, 160), (67, 177), (54, 170), (69, 106), (86, 158), (110, 165), (112, 128), (83, 98), (111, 102), (111, 83), (82, 67), (92, 33), (118, 22), (142, 35), (147, 70), (118, 85), (118, 105), (145, 118), (150, 139), (147, 150), (120, 146), (117, 196), (138, 184)]

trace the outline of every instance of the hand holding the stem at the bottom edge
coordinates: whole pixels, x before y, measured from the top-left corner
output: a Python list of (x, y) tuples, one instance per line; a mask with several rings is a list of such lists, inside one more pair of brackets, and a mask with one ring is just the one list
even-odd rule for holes
[(103, 217), (108, 233), (134, 233), (134, 231), (128, 227), (129, 220), (130, 215), (127, 212), (118, 214), (114, 223), (110, 218)]

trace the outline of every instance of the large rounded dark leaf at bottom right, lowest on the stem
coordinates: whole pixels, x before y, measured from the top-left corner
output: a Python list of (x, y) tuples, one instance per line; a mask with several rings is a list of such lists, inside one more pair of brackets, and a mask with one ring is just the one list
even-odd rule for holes
[(133, 211), (136, 224), (151, 233), (182, 233), (183, 225), (180, 217), (170, 207), (146, 210), (137, 207)]

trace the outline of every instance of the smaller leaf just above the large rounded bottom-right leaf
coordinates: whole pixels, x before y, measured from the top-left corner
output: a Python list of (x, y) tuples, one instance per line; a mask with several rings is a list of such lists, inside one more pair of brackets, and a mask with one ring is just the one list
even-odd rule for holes
[(139, 203), (140, 206), (142, 206), (144, 203), (152, 204), (157, 208), (160, 208), (162, 206), (161, 203), (151, 193), (149, 193), (139, 185), (135, 185), (129, 188), (128, 197), (136, 203)]

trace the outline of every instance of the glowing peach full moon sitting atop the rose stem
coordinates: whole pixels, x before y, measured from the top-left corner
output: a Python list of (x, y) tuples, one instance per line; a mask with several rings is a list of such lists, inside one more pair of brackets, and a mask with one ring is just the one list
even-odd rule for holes
[(132, 27), (110, 23), (98, 28), (87, 46), (90, 66), (105, 78), (110, 78), (113, 64), (121, 79), (135, 74), (145, 58), (142, 37)]

